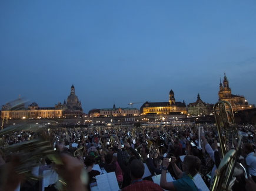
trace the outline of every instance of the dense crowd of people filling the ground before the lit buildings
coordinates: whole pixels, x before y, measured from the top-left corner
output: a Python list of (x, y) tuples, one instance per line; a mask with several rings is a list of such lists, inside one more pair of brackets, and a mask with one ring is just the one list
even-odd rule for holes
[[(47, 156), (42, 156), (38, 161), (38, 175), (42, 175), (45, 169), (52, 169), (65, 180), (69, 190), (93, 190), (95, 176), (102, 172), (115, 172), (121, 190), (178, 191), (199, 190), (193, 177), (200, 173), (210, 188), (221, 162), (220, 140), (214, 125), (202, 127), (201, 133), (198, 132), (198, 126), (45, 128), (52, 149), (61, 156), (62, 165), (54, 164)], [(239, 176), (239, 183), (235, 183), (233, 190), (255, 189), (255, 127), (240, 125), (238, 131), (242, 136), (239, 160), (247, 166), (251, 176), (248, 179), (244, 175)], [(1, 145), (19, 144), (40, 136), (35, 131), (15, 131), (4, 135)], [(3, 170), (8, 171), (5, 173), (6, 180), (1, 182), (2, 189), (15, 190), (19, 182), (22, 182), (20, 190), (56, 189), (58, 180), (44, 187), (40, 180), (31, 180), (22, 174), (15, 176), (15, 167), (20, 162), (18, 156), (1, 149), (0, 163), (2, 167), (5, 166), (1, 168), (2, 176)], [(144, 163), (151, 173), (146, 178), (143, 178)], [(100, 170), (95, 169), (95, 165), (99, 165)], [(87, 186), (80, 180), (83, 170), (87, 172)], [(167, 182), (167, 172), (174, 178), (173, 182)], [(152, 176), (156, 175), (161, 175), (159, 185), (152, 182)]]

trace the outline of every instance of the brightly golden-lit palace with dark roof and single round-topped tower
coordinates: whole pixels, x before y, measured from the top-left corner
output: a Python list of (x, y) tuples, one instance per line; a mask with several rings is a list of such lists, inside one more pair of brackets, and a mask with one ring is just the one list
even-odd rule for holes
[(174, 91), (169, 92), (169, 102), (145, 102), (141, 106), (141, 114), (187, 114), (185, 102), (175, 101)]

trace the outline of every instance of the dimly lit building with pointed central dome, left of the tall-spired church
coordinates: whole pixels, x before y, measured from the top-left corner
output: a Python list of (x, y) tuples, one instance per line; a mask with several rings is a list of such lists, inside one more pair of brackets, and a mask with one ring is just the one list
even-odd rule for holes
[(188, 104), (188, 115), (210, 115), (213, 112), (213, 104), (207, 104), (197, 94), (197, 101)]

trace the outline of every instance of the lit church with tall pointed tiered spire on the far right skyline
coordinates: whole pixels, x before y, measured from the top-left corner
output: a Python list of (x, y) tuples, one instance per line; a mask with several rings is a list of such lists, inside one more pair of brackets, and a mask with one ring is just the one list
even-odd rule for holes
[(254, 105), (248, 104), (244, 96), (231, 94), (231, 88), (228, 84), (226, 74), (224, 74), (223, 86), (220, 81), (219, 100), (228, 101), (232, 105), (233, 111), (246, 110), (254, 108)]

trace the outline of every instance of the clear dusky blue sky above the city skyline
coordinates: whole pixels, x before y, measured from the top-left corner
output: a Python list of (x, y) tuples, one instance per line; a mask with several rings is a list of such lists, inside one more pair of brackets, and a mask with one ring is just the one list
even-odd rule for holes
[[(256, 1), (0, 1), (0, 104), (67, 98), (218, 100), (220, 75), (256, 103)], [(140, 107), (141, 104), (134, 105)]]

